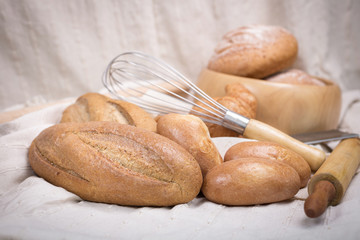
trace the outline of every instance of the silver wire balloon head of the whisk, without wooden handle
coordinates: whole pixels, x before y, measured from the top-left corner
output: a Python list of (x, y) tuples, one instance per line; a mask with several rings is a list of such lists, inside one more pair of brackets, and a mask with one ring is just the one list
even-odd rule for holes
[[(172, 66), (141, 52), (125, 52), (115, 57), (102, 80), (114, 97), (151, 113), (191, 113), (239, 133), (248, 121), (212, 99)], [(231, 123), (234, 116), (240, 118), (240, 125)]]

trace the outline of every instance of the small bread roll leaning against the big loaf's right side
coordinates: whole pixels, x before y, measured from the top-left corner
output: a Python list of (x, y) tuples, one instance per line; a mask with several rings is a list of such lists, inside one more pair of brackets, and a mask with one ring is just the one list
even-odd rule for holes
[(188, 150), (199, 163), (203, 176), (223, 162), (205, 123), (196, 116), (175, 113), (161, 116), (157, 131)]

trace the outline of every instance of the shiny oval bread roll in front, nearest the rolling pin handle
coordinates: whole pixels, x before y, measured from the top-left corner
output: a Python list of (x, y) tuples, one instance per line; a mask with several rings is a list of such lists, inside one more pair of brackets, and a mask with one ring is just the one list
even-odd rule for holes
[(224, 162), (205, 176), (205, 197), (225, 205), (254, 205), (292, 198), (300, 188), (297, 172), (287, 164), (262, 158)]

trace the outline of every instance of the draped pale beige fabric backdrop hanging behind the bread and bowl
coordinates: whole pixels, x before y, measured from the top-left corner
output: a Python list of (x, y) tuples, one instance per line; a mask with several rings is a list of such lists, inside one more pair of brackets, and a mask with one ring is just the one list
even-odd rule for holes
[(287, 28), (296, 67), (360, 89), (359, 12), (356, 0), (0, 0), (0, 111), (99, 91), (128, 50), (195, 81), (221, 36), (248, 24)]

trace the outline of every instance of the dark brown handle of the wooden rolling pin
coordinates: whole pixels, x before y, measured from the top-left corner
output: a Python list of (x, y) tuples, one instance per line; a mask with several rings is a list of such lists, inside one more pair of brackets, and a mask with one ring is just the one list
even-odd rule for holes
[(336, 189), (331, 182), (322, 180), (316, 183), (314, 191), (305, 201), (304, 211), (306, 216), (310, 218), (319, 217), (325, 212), (335, 195)]

